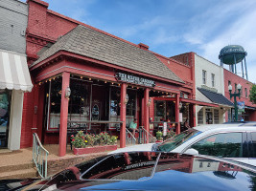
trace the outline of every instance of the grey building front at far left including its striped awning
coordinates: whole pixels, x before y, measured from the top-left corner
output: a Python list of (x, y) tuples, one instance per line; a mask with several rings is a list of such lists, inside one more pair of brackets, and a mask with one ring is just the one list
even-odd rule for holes
[(0, 148), (20, 149), (24, 92), (33, 88), (26, 59), (28, 6), (0, 1)]

